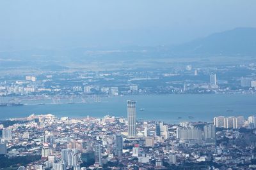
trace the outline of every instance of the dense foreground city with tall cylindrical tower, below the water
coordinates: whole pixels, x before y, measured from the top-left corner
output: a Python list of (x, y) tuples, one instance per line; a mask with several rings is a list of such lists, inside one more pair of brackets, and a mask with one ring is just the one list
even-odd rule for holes
[[(1, 121), (1, 168), (11, 169), (255, 169), (256, 116), (213, 122), (30, 115)], [(17, 164), (17, 161), (20, 161)]]

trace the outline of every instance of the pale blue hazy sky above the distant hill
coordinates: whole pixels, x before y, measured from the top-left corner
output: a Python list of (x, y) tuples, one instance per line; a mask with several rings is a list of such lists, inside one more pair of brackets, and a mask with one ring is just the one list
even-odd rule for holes
[(1, 0), (0, 49), (170, 45), (256, 27), (255, 0)]

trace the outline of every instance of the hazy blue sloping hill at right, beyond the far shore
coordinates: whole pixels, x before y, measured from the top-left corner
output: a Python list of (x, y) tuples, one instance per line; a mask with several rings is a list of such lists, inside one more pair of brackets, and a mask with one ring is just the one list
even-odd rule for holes
[(174, 55), (256, 56), (256, 28), (236, 28), (218, 32), (170, 48)]

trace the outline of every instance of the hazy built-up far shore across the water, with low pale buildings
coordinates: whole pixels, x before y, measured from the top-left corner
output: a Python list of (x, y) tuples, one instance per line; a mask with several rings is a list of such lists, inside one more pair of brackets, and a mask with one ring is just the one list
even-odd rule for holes
[[(183, 63), (184, 64), (184, 63)], [(0, 77), (1, 106), (100, 102), (140, 94), (255, 94), (255, 63), (213, 68), (182, 65), (153, 71), (51, 71)], [(239, 71), (239, 74), (236, 74)]]

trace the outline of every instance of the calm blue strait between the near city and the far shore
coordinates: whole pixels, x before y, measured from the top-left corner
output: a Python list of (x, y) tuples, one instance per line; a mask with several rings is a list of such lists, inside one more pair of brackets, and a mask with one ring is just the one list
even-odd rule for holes
[[(145, 120), (211, 122), (219, 115), (248, 117), (256, 113), (255, 94), (172, 94), (108, 97), (100, 103), (0, 107), (0, 119), (52, 113), (58, 117), (126, 117), (126, 101), (137, 101), (137, 117)], [(145, 110), (141, 111), (140, 108)], [(180, 117), (180, 118), (179, 118)], [(194, 118), (189, 118), (194, 117)]]

